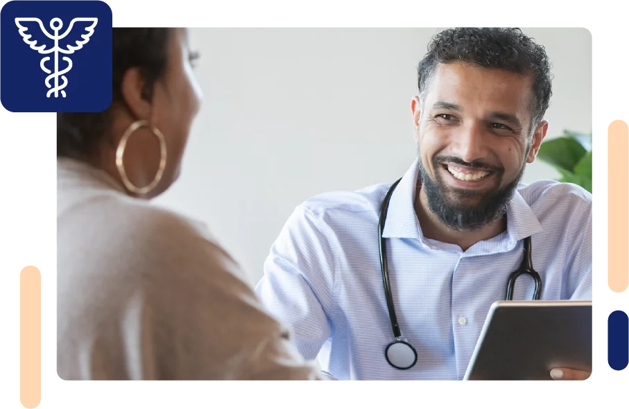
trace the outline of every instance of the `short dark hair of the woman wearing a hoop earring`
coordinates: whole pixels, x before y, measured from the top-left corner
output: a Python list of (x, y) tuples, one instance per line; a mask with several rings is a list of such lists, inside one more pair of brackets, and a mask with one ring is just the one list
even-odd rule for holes
[(150, 101), (155, 82), (166, 72), (169, 40), (175, 23), (117, 23), (113, 30), (112, 104), (97, 113), (64, 112), (56, 115), (56, 156), (85, 159), (94, 154), (109, 131), (111, 110), (123, 103), (121, 82), (128, 69), (138, 68), (146, 81), (143, 97)]

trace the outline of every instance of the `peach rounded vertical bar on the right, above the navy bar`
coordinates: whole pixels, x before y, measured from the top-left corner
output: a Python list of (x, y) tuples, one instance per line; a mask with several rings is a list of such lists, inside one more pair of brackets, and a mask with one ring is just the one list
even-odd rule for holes
[[(626, 233), (629, 231), (627, 203), (629, 193), (625, 180), (629, 154), (629, 123), (614, 119), (607, 128), (607, 286), (612, 293), (629, 288)], [(607, 220), (611, 220), (608, 223)]]

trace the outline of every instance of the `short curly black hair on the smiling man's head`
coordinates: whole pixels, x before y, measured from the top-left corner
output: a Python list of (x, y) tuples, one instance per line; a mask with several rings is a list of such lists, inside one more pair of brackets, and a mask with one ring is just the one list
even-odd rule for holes
[(551, 65), (544, 47), (519, 28), (457, 27), (438, 33), (428, 45), (428, 53), (417, 65), (417, 86), (422, 103), (437, 65), (451, 62), (505, 69), (523, 76), (533, 74), (529, 133), (544, 119), (552, 95)]

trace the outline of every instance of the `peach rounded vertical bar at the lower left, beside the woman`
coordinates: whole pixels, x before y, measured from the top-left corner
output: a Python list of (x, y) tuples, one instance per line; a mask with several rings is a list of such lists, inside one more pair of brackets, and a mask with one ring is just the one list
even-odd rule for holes
[(42, 270), (21, 268), (18, 276), (19, 378), (18, 398), (24, 409), (36, 409), (43, 394), (43, 299)]

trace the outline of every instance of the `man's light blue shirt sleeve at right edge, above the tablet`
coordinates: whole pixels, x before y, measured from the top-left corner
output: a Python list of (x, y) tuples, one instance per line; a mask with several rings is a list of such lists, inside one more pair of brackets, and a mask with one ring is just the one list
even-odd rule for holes
[[(576, 211), (578, 210), (578, 211)], [(572, 210), (574, 245), (571, 246), (566, 264), (565, 299), (591, 301), (594, 280), (594, 204), (582, 202)]]

